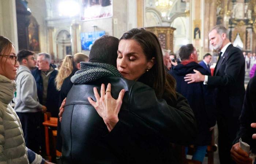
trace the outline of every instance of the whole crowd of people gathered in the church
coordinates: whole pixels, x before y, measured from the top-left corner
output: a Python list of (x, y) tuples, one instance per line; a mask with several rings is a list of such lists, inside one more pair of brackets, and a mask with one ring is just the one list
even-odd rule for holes
[(64, 164), (177, 164), (175, 145), (187, 154), (192, 144), (192, 159), (202, 163), (216, 121), (221, 164), (252, 164), (239, 139), (255, 152), (255, 77), (245, 91), (247, 60), (225, 27), (215, 26), (208, 36), (220, 52), (213, 75), (211, 54), (198, 62), (196, 48), (187, 44), (178, 60), (144, 28), (120, 39), (103, 35), (89, 58), (67, 55), (59, 69), (45, 52), (16, 55), (0, 36), (0, 161), (50, 163), (42, 158), (47, 111), (59, 117), (56, 149)]

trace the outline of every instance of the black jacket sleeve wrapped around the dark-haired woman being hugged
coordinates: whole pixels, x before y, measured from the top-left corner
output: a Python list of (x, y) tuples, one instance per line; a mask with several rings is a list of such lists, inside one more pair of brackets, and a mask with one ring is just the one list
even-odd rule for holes
[(142, 135), (157, 135), (177, 144), (188, 144), (195, 137), (195, 117), (181, 94), (177, 93), (176, 105), (169, 106), (164, 99), (157, 99), (152, 88), (136, 82), (129, 96), (130, 119)]

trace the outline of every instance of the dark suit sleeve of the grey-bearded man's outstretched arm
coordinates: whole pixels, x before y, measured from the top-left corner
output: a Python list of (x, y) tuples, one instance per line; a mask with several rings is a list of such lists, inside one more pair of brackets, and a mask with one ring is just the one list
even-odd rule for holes
[(236, 48), (229, 50), (229, 56), (226, 59), (225, 75), (221, 76), (208, 76), (208, 85), (214, 86), (227, 86), (232, 85), (237, 81), (244, 66), (244, 57)]

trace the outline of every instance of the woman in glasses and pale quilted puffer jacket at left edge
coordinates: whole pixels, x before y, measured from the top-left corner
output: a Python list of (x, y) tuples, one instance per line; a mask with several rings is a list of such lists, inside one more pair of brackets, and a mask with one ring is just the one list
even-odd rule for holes
[(0, 36), (0, 163), (44, 164), (42, 156), (26, 147), (19, 117), (10, 105), (16, 90), (17, 60), (11, 41)]

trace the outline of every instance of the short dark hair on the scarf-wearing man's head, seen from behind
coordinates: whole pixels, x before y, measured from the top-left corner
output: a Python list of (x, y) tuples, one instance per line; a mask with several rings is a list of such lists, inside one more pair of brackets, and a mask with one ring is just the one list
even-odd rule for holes
[(116, 67), (118, 44), (119, 40), (114, 36), (101, 36), (91, 46), (89, 62), (106, 63)]

